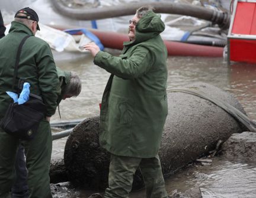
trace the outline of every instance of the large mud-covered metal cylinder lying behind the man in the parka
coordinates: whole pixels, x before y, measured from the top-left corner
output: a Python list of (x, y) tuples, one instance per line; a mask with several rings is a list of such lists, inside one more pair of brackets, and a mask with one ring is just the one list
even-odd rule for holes
[[(238, 100), (223, 90), (206, 84), (187, 86), (221, 99), (244, 112)], [(168, 116), (162, 135), (159, 157), (164, 176), (214, 150), (219, 140), (226, 141), (232, 133), (244, 131), (233, 116), (209, 100), (183, 92), (168, 93)], [(104, 189), (107, 186), (110, 154), (100, 147), (99, 117), (78, 124), (65, 147), (65, 166), (69, 180), (76, 186)], [(136, 173), (134, 188), (143, 186)]]

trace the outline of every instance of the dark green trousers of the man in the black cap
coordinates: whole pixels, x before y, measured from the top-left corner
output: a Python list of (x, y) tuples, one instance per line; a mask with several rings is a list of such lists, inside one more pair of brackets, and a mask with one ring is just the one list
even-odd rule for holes
[[(51, 198), (50, 158), (52, 132), (46, 119), (40, 122), (34, 138), (21, 141), (24, 144), (28, 169), (28, 189), (31, 198)], [(0, 128), (0, 198), (11, 197), (9, 191), (15, 181), (15, 158), (19, 139)]]

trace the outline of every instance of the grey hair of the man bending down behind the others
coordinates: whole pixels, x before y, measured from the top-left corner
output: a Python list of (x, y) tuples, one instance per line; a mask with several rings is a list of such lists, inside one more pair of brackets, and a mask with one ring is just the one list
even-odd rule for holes
[(82, 89), (82, 82), (75, 72), (71, 72), (71, 79), (66, 86), (65, 95), (78, 96)]

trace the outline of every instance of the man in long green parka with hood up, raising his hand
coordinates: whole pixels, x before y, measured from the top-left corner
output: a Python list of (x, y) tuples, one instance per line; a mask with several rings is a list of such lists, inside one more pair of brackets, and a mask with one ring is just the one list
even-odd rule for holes
[(167, 49), (159, 35), (164, 29), (152, 7), (141, 7), (130, 20), (130, 41), (124, 42), (119, 57), (94, 43), (84, 46), (94, 64), (111, 73), (100, 113), (100, 144), (111, 153), (105, 198), (128, 197), (137, 167), (146, 197), (168, 197), (158, 157), (168, 113)]

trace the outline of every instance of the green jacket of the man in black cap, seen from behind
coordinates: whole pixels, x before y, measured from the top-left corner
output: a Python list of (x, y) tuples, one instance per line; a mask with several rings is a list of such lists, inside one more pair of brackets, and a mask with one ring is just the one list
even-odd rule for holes
[(17, 91), (18, 79), (15, 90), (12, 90), (12, 78), (18, 46), (26, 35), (31, 37), (25, 41), (21, 50), (17, 78), (30, 83), (30, 93), (43, 98), (47, 108), (46, 116), (52, 116), (56, 111), (60, 89), (52, 51), (45, 41), (34, 37), (26, 25), (13, 21), (9, 34), (0, 40), (0, 118), (12, 102), (5, 92)]

